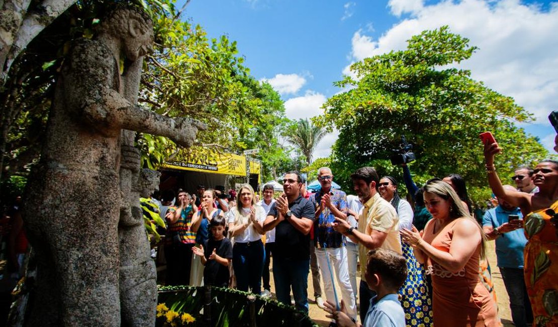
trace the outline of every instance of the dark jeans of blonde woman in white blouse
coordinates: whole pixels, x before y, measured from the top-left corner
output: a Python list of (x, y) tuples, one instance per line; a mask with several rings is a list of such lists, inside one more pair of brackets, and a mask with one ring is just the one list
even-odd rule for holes
[(259, 295), (262, 291), (262, 271), (265, 254), (261, 240), (248, 243), (235, 242), (233, 246), (233, 269), (237, 277), (237, 289)]

